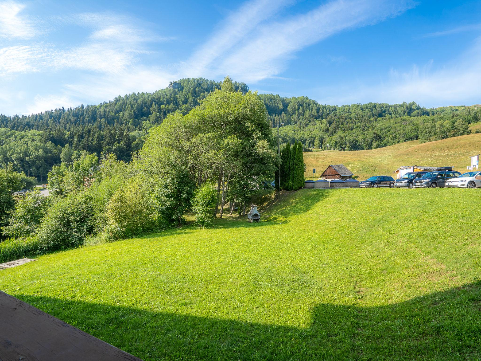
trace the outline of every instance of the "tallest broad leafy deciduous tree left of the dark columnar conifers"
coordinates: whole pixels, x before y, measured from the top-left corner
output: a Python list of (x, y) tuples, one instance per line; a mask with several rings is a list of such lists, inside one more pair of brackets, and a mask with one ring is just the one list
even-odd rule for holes
[[(247, 177), (257, 185), (272, 179), (279, 159), (264, 103), (255, 92), (235, 91), (226, 77), (222, 89), (212, 92), (187, 115), (168, 116), (151, 129), (136, 162), (143, 171), (161, 178), (182, 169), (198, 186), (216, 181), (222, 217), (232, 181), (251, 185), (242, 181)], [(231, 187), (234, 198), (237, 189), (246, 193), (244, 187)]]

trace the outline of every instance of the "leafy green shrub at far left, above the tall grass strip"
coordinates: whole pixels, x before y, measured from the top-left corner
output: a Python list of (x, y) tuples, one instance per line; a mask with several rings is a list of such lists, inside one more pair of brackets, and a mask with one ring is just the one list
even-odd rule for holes
[(40, 221), (45, 216), (50, 198), (39, 192), (29, 192), (22, 196), (10, 212), (9, 225), (2, 228), (3, 234), (10, 237), (26, 237), (34, 234)]

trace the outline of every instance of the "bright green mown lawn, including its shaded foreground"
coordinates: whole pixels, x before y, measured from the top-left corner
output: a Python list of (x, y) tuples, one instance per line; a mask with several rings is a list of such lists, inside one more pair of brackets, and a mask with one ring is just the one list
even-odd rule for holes
[(481, 190), (285, 194), (0, 271), (0, 289), (144, 360), (480, 360)]

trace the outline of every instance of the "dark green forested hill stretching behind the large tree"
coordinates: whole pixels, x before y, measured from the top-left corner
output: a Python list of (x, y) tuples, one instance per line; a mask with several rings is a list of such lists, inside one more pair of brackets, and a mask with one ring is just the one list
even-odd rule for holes
[[(61, 108), (30, 116), (0, 115), (0, 166), (44, 181), (51, 166), (71, 162), (77, 152), (115, 153), (129, 160), (152, 126), (170, 113), (187, 113), (221, 83), (203, 78), (172, 82), (153, 93), (118, 96), (110, 102)], [(234, 88), (248, 91), (244, 83)], [(372, 149), (420, 139), (430, 141), (469, 133), (481, 118), (479, 107), (426, 109), (416, 103), (321, 105), (307, 97), (260, 94), (274, 127), (283, 122), (282, 142), (304, 148)], [(0, 110), (1, 111), (1, 110)], [(67, 149), (65, 150), (65, 146)], [(63, 156), (62, 156), (63, 152)]]

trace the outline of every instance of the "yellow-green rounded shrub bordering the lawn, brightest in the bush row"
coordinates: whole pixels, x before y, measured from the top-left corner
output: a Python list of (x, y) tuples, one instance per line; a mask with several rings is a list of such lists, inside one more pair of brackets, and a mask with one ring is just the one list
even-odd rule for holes
[(162, 228), (157, 208), (146, 186), (136, 179), (127, 181), (107, 205), (107, 237), (128, 238)]

